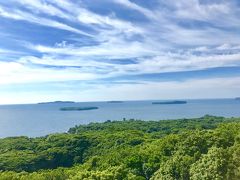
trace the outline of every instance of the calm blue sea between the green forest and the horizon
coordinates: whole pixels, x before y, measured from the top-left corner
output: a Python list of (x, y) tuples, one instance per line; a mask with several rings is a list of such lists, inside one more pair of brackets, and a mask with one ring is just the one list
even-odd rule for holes
[[(60, 111), (65, 106), (97, 106), (97, 110)], [(152, 105), (152, 101), (123, 103), (88, 102), (75, 104), (31, 104), (0, 106), (0, 137), (42, 136), (66, 132), (70, 127), (89, 122), (122, 120), (164, 120), (201, 117), (206, 114), (240, 117), (240, 100), (188, 100), (187, 104)]]

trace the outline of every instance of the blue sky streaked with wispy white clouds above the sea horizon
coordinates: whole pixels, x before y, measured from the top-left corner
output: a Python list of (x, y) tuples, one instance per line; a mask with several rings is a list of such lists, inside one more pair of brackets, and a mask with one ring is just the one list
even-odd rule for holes
[(239, 0), (0, 1), (0, 104), (237, 96)]

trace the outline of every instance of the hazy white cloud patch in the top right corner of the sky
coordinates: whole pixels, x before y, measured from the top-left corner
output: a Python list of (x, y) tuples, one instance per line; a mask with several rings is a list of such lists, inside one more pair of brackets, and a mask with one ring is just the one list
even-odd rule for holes
[(240, 20), (238, 18), (239, 8), (234, 1), (208, 1), (200, 0), (169, 0), (162, 4), (171, 7), (172, 17), (176, 19), (192, 19), (214, 24), (220, 27), (237, 27)]

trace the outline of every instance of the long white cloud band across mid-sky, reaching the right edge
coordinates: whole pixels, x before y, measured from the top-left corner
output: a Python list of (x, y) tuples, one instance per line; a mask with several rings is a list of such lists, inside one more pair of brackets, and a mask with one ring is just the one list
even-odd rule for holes
[[(47, 65), (64, 65), (64, 66), (83, 66), (86, 69), (91, 67), (99, 67), (105, 69), (108, 75), (127, 75), (127, 74), (142, 74), (142, 73), (163, 73), (163, 72), (176, 72), (176, 71), (190, 71), (201, 70), (207, 68), (216, 67), (228, 67), (240, 65), (240, 54), (235, 53), (209, 53), (209, 51), (216, 51), (214, 48), (199, 47), (195, 49), (189, 49), (179, 52), (171, 51), (157, 51), (149, 48), (148, 46), (142, 47), (141, 44), (136, 46), (135, 44), (128, 47), (121, 46), (97, 46), (97, 47), (44, 47), (33, 46), (40, 52), (47, 53), (48, 55), (43, 58), (22, 58), (21, 62), (27, 63), (28, 61), (36, 64)], [(149, 49), (148, 49), (149, 48)], [(196, 51), (201, 51), (202, 54), (195, 54)], [(57, 55), (69, 55), (70, 57), (61, 59), (54, 56)], [(144, 57), (144, 55), (148, 55)], [(101, 59), (106, 58), (105, 62), (101, 62)], [(108, 62), (109, 59), (122, 59), (135, 58), (134, 64), (112, 64)], [(86, 60), (87, 59), (87, 60)], [(113, 60), (114, 61), (114, 60)], [(114, 69), (114, 73), (112, 72)], [(93, 73), (93, 72), (92, 72)]]

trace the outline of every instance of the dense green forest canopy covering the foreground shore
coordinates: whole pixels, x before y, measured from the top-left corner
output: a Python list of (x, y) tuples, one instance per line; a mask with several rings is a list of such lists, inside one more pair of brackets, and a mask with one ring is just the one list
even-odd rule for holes
[(240, 118), (90, 123), (0, 139), (0, 179), (240, 179)]

